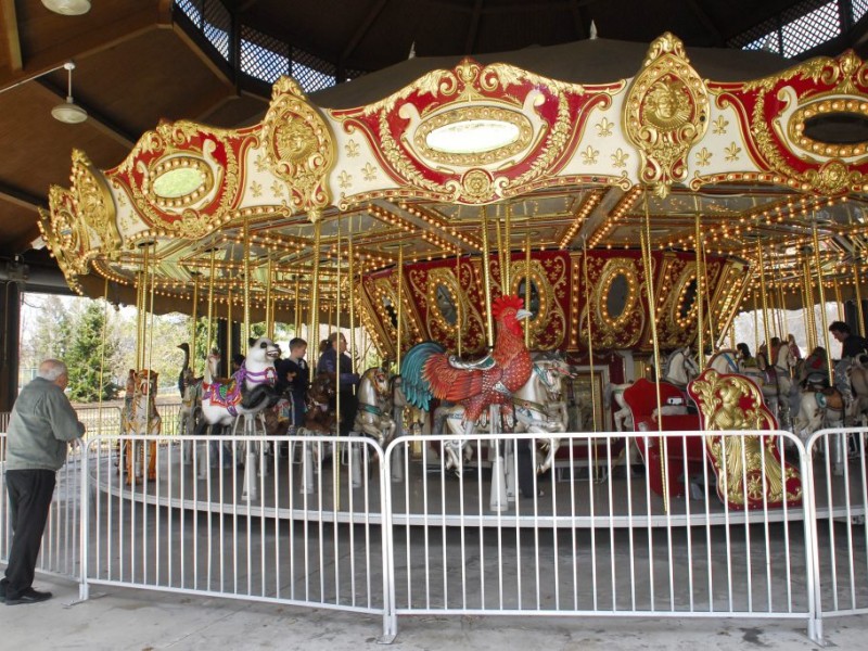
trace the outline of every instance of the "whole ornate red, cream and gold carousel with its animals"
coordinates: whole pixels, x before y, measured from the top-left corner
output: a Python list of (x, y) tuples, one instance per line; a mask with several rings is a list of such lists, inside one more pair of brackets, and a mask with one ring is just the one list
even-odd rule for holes
[[(191, 375), (205, 378), (205, 420), (251, 436), (286, 433), (279, 419), (257, 425), (279, 399), (270, 391), (276, 322), (308, 340), (311, 367), (323, 329), (363, 330), (382, 363), (359, 368), (369, 350), (348, 337), (360, 379), (352, 431), (371, 443), (331, 450), (329, 468), (317, 443), (291, 449), (289, 462), (276, 450), (265, 461), (276, 476), (297, 472), (305, 500), (341, 495), (352, 509), (359, 458), (396, 436), (430, 433), (436, 445), (414, 437), (395, 467), (407, 481), (421, 482), (430, 467), (458, 475), (442, 499), (460, 502), (465, 478), (498, 484), (501, 463), (512, 464), (496, 445), (468, 445), (485, 430), (537, 437), (533, 467), (557, 477), (554, 490), (579, 471), (601, 477), (644, 465), (661, 505), (648, 500), (648, 514), (684, 512), (690, 486), (677, 469), (697, 464), (718, 477), (722, 512), (782, 507), (786, 516), (803, 478), (781, 442), (745, 437), (746, 470), (728, 470), (728, 444), (701, 432), (789, 429), (804, 438), (866, 418), (858, 360), (843, 381), (827, 360), (822, 387), (803, 387), (796, 360), (776, 342), (789, 334), (784, 310), (797, 309), (803, 348), (831, 350), (826, 311), (815, 316), (814, 306), (832, 302), (864, 334), (868, 67), (846, 52), (755, 79), (703, 75), (665, 34), (633, 77), (608, 82), (465, 59), (375, 102), (333, 108), (284, 77), (259, 124), (164, 123), (112, 169), (75, 151), (71, 187), (51, 188), (42, 237), (74, 290), (139, 309), (136, 404), (145, 413), (127, 419), (132, 434), (159, 431), (149, 418), (151, 314), (206, 319), (206, 342), (193, 326), (189, 349), (217, 347), (225, 359), (265, 323), (265, 337), (244, 345), (237, 401), (217, 379), (226, 369), (204, 356), (190, 361)], [(736, 348), (742, 311), (756, 315), (750, 347), (770, 343), (761, 374)], [(233, 322), (241, 336), (218, 341)], [(311, 393), (340, 412), (339, 388), (339, 379), (315, 376)], [(824, 393), (832, 390), (840, 403)], [(809, 403), (814, 394), (824, 397)], [(336, 420), (295, 425), (315, 437), (335, 434)], [(654, 436), (559, 445), (561, 434), (622, 429), (697, 435), (677, 445)], [(235, 455), (190, 444), (183, 456), (206, 454)], [(257, 454), (266, 452), (245, 452), (247, 470)], [(159, 452), (127, 452), (137, 455), (151, 464), (137, 473), (130, 463), (131, 484), (137, 474), (146, 484), (149, 472), (163, 481)], [(304, 469), (311, 462), (318, 480)], [(757, 493), (746, 486), (761, 462), (775, 481)], [(184, 472), (194, 486), (235, 471), (206, 463), (165, 482)], [(417, 513), (410, 493), (400, 508)], [(492, 510), (518, 509), (512, 494), (505, 501), (495, 493)], [(215, 495), (295, 508), (261, 480), (221, 482)]]

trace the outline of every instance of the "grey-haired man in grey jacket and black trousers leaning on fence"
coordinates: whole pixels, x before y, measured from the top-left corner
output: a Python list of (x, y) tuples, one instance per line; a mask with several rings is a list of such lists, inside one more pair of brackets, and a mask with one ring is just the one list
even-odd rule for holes
[(5, 476), (13, 533), (9, 565), (0, 580), (0, 601), (7, 605), (51, 598), (51, 592), (31, 586), (58, 471), (66, 462), (69, 442), (85, 434), (63, 393), (68, 382), (66, 365), (47, 359), (12, 408)]

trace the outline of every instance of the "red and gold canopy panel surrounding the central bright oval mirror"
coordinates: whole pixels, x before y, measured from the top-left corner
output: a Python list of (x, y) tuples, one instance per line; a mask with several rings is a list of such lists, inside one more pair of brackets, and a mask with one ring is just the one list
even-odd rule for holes
[[(588, 115), (610, 106), (612, 93), (622, 88), (623, 81), (577, 86), (467, 59), (376, 104), (330, 115), (347, 133), (365, 136), (396, 184), (429, 199), (486, 204), (557, 175), (573, 155)], [(512, 136), (482, 151), (432, 143), (433, 132), (483, 123)]]

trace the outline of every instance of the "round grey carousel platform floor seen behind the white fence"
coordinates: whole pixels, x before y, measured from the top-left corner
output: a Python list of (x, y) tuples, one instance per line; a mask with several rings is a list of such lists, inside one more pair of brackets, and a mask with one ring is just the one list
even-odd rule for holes
[[(459, 477), (444, 471), (436, 456), (427, 451), (421, 457), (409, 455), (397, 464), (403, 476), (385, 477), (391, 484), (391, 503), (386, 503), (387, 496), (381, 494), (376, 480), (380, 463), (367, 455), (369, 448), (358, 446), (358, 454), (342, 454), (335, 474), (328, 444), (311, 444), (310, 454), (299, 445), (293, 450), (292, 462), (281, 455), (260, 454), (258, 460), (267, 470), (254, 473), (253, 485), (245, 489), (242, 450), (204, 449), (200, 445), (193, 459), (197, 462), (207, 457), (213, 461), (204, 477), (196, 471), (204, 463), (183, 463), (181, 446), (171, 443), (159, 447), (155, 480), (127, 485), (117, 472), (116, 457), (102, 455), (91, 465), (94, 485), (118, 500), (170, 508), (368, 524), (382, 522), (386, 512), (394, 524), (538, 528), (682, 527), (805, 518), (802, 507), (746, 513), (727, 509), (714, 488), (702, 490), (697, 482), (692, 498), (671, 497), (666, 509), (663, 498), (649, 489), (643, 468), (637, 465), (631, 470), (614, 465), (608, 473), (608, 467), (599, 464), (561, 463), (556, 471), (537, 477), (535, 498), (503, 499), (497, 490), (493, 496), (489, 464), (470, 464)], [(305, 458), (309, 465), (304, 463)], [(861, 496), (866, 494), (866, 480), (857, 461), (851, 461), (842, 476), (827, 473), (821, 460), (815, 471), (818, 518), (865, 515)], [(509, 480), (506, 485), (511, 485)]]

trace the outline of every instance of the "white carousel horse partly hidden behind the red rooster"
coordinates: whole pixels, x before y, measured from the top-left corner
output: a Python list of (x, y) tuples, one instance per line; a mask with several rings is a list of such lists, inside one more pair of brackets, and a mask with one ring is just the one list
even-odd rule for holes
[[(566, 432), (569, 416), (566, 403), (561, 399), (562, 382), (570, 375), (569, 365), (559, 356), (545, 356), (534, 361), (533, 372), (527, 382), (512, 394), (512, 409), (503, 409), (503, 416), (511, 418), (515, 432), (529, 432), (535, 434), (552, 434)], [(438, 407), (434, 413), (435, 423), (444, 422), (449, 433), (455, 436), (467, 436), (464, 422), (464, 407), (460, 404), (448, 407)], [(474, 431), (490, 431), (487, 411), (483, 412), (478, 421), (473, 423)], [(443, 427), (435, 429), (435, 433), (443, 433)], [(554, 454), (558, 451), (557, 438), (539, 441), (546, 454), (545, 460), (538, 465), (538, 472), (545, 472), (551, 467)], [(460, 457), (469, 461), (473, 448), (468, 442), (449, 441), (444, 444), (446, 452), (446, 470), (460, 472)]]

